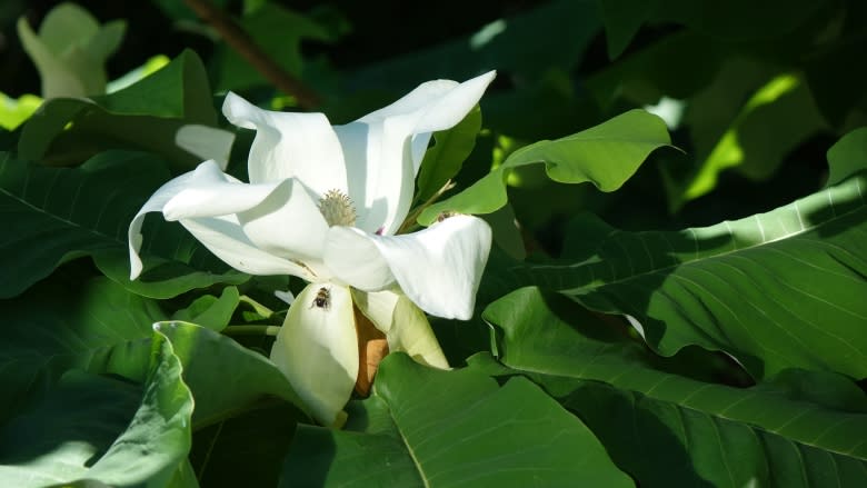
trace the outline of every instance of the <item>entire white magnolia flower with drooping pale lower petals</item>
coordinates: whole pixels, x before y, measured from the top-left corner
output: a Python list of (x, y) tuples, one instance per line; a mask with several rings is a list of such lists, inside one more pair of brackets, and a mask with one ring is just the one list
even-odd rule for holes
[(238, 270), (309, 281), (289, 308), (271, 359), (325, 425), (342, 422), (358, 375), (356, 311), (386, 335), (390, 350), (447, 368), (421, 310), (471, 317), (490, 228), (455, 216), (418, 232), (395, 232), (409, 212), (431, 132), (458, 123), (494, 76), (429, 81), (335, 127), (321, 113), (267, 111), (229, 93), (226, 117), (257, 131), (250, 182), (206, 161), (157, 190), (129, 228), (131, 279), (142, 269), (144, 213), (161, 211)]

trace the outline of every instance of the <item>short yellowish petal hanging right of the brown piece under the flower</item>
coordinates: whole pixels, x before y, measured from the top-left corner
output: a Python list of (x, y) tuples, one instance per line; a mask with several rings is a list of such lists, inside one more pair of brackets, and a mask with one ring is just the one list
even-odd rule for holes
[(402, 351), (417, 362), (447, 369), (446, 355), (430, 328), (425, 312), (406, 296), (390, 290), (353, 290), (359, 310), (386, 335), (389, 351)]

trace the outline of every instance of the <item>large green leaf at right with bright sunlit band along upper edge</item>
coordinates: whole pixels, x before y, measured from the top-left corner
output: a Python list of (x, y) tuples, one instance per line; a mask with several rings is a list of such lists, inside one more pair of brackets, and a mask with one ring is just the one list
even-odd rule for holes
[(515, 272), (586, 307), (635, 318), (670, 356), (722, 350), (755, 378), (787, 368), (867, 376), (864, 173), (767, 213), (676, 232), (595, 218), (568, 231), (566, 263)]

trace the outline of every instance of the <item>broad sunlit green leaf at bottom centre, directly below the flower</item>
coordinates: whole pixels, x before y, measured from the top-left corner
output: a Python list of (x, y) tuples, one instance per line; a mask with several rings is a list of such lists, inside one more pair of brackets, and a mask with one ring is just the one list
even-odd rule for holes
[(281, 486), (632, 485), (578, 418), (524, 378), (498, 387), (391, 353), (356, 407), (346, 431), (299, 426)]

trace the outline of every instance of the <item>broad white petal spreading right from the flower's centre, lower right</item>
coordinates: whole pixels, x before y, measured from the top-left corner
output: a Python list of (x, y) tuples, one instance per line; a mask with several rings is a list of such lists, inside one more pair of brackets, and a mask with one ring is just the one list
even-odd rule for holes
[[(357, 243), (352, 246), (352, 241)], [(379, 251), (379, 258), (371, 256), (370, 242)], [(490, 242), (490, 227), (471, 216), (455, 216), (401, 236), (377, 236), (359, 229), (332, 227), (326, 237), (325, 263), (352, 287), (377, 291), (393, 279), (407, 297), (428, 313), (468, 320), (472, 317)], [(358, 251), (338, 257), (332, 248), (356, 248)], [(357, 272), (362, 267), (369, 269), (367, 276)], [(377, 277), (378, 281), (371, 277)]]

